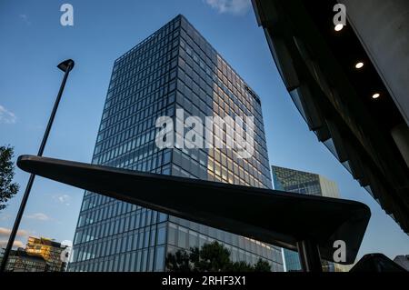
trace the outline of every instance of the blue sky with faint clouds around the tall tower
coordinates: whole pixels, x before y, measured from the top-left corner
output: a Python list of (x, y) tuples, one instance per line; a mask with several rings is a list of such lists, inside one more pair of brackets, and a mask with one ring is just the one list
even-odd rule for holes
[[(74, 26), (60, 25), (60, 6), (74, 6)], [(372, 218), (359, 256), (409, 253), (409, 238), (385, 215), (295, 109), (256, 25), (249, 1), (13, 1), (0, 2), (0, 145), (35, 155), (62, 80), (55, 67), (75, 60), (45, 156), (89, 163), (112, 65), (119, 55), (175, 15), (183, 14), (262, 99), (270, 163), (334, 180), (343, 198), (370, 206)], [(28, 174), (16, 169), (21, 191), (0, 213), (0, 243), (14, 217)], [(36, 177), (18, 241), (42, 235), (72, 240), (83, 191)]]

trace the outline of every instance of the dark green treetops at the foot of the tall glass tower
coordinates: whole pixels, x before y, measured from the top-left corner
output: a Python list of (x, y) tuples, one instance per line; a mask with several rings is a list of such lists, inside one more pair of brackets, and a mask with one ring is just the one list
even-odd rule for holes
[(178, 250), (166, 256), (170, 272), (270, 272), (270, 265), (260, 259), (254, 266), (244, 261), (232, 262), (230, 251), (217, 242), (190, 248), (190, 253)]

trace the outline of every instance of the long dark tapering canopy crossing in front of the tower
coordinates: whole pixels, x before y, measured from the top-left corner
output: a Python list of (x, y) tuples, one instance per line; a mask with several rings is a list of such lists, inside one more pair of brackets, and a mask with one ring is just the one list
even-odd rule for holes
[(296, 250), (312, 241), (333, 261), (334, 241), (353, 264), (370, 218), (361, 203), (311, 195), (155, 175), (101, 165), (22, 155), (18, 167), (66, 185)]

